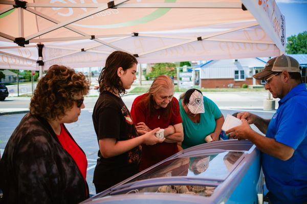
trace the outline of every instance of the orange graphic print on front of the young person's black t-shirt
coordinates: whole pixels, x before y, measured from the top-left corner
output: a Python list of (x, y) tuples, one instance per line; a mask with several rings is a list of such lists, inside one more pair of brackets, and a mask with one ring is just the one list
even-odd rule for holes
[[(128, 132), (128, 139), (133, 139), (135, 138), (135, 135), (138, 135), (137, 130), (133, 124), (133, 121), (131, 119), (129, 110), (127, 109), (127, 107), (124, 105), (121, 109), (122, 114), (126, 120), (126, 123), (128, 125), (131, 126), (131, 129), (133, 129), (133, 131), (129, 131)], [(131, 134), (132, 133), (132, 134)], [(131, 149), (130, 151), (128, 151), (128, 163), (138, 163), (140, 161), (140, 155), (141, 155), (141, 145), (139, 145), (139, 148), (134, 148)]]

